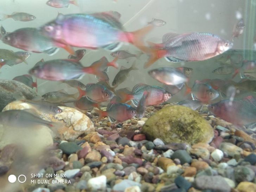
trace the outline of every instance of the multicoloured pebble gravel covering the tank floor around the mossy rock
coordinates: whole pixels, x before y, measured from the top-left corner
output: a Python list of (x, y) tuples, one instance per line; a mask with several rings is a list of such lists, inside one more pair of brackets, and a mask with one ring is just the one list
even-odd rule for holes
[[(42, 178), (50, 184), (31, 184), (28, 192), (255, 192), (256, 150), (253, 130), (209, 116), (214, 138), (210, 143), (148, 141), (141, 133), (147, 119), (164, 105), (146, 109), (145, 117), (113, 125), (108, 118), (94, 122), (95, 132), (74, 142), (56, 141)], [(66, 178), (46, 178), (46, 173)], [(52, 180), (69, 181), (52, 184)], [(43, 183), (43, 182), (42, 182)], [(41, 188), (38, 188), (41, 187)]]

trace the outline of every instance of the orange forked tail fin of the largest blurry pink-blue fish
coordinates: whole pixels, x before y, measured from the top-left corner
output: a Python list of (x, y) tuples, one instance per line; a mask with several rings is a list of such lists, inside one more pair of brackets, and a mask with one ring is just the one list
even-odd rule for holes
[(133, 38), (130, 41), (134, 46), (138, 47), (142, 52), (149, 53), (150, 48), (145, 46), (143, 42), (143, 37), (152, 29), (154, 28), (153, 25), (148, 25), (146, 27), (143, 27), (137, 31), (131, 32), (133, 34)]

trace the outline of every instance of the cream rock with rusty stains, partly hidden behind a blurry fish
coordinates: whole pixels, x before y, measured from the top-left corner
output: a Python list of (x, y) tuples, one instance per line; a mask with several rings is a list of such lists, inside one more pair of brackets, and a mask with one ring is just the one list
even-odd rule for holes
[[(9, 103), (3, 109), (3, 111), (11, 110), (11, 109), (30, 109), (30, 108), (32, 108), (31, 105), (27, 103), (23, 103), (21, 101), (14, 101), (12, 103)], [(82, 134), (87, 134), (95, 130), (94, 124), (92, 123), (92, 121), (87, 115), (71, 107), (60, 106), (60, 108), (62, 109), (62, 113), (59, 113), (56, 115), (45, 114), (45, 113), (41, 113), (40, 111), (37, 111), (38, 115), (44, 120), (53, 121), (53, 122), (64, 122), (64, 126), (58, 129), (58, 132), (59, 132), (58, 136), (60, 136), (60, 139), (72, 141)], [(50, 128), (48, 129), (51, 130)], [(53, 135), (53, 136), (56, 136), (56, 135)]]

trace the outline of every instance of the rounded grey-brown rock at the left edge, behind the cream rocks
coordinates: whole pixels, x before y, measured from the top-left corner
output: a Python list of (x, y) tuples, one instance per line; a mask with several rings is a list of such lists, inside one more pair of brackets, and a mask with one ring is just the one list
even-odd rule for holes
[(37, 92), (24, 83), (14, 80), (0, 80), (0, 111), (8, 103), (15, 101), (17, 97), (33, 99), (37, 96), (39, 96)]

